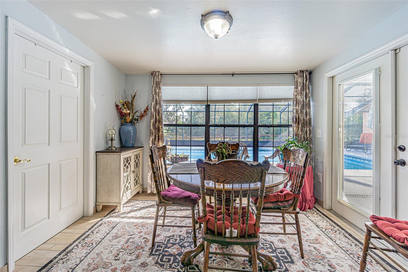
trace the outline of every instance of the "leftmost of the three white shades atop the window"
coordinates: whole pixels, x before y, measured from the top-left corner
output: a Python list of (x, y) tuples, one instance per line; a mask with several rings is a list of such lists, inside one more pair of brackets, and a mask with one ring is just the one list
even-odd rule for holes
[(207, 85), (162, 85), (164, 104), (207, 104)]

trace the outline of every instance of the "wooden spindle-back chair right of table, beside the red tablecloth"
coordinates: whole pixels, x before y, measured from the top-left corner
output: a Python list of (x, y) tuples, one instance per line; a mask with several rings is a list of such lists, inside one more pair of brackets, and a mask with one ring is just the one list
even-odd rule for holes
[[(286, 189), (293, 194), (293, 202), (289, 206), (275, 206), (275, 207), (265, 207), (262, 209), (263, 216), (273, 216), (273, 217), (282, 217), (282, 223), (271, 223), (271, 222), (262, 222), (262, 225), (279, 225), (282, 224), (283, 232), (259, 232), (261, 234), (282, 234), (282, 235), (297, 235), (299, 242), (300, 256), (304, 258), (303, 253), (303, 243), (302, 243), (302, 233), (300, 230), (299, 223), (299, 213), (300, 210), (297, 208), (299, 203), (299, 198), (302, 194), (302, 187), (304, 183), (304, 178), (306, 176), (306, 170), (309, 163), (309, 153), (305, 152), (303, 149), (288, 149), (285, 147), (283, 149), (283, 169), (288, 172), (288, 182), (286, 183)], [(275, 204), (273, 204), (275, 205)], [(272, 215), (279, 214), (279, 215)], [(295, 221), (290, 222), (285, 216), (289, 216)], [(294, 217), (293, 217), (294, 216)], [(296, 232), (286, 232), (286, 225), (292, 225)], [(295, 227), (296, 226), (296, 227)]]

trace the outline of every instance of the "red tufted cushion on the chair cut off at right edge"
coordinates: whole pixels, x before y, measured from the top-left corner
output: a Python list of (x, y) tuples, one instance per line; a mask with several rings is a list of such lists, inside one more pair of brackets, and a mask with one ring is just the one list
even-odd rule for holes
[(408, 221), (395, 218), (372, 215), (371, 221), (387, 235), (391, 236), (399, 243), (408, 245)]

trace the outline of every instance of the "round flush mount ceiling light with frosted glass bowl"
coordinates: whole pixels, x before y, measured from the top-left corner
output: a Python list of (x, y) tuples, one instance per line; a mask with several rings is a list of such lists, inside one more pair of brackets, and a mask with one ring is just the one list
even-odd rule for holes
[(214, 10), (201, 15), (201, 27), (211, 38), (221, 38), (231, 26), (232, 16), (229, 11)]

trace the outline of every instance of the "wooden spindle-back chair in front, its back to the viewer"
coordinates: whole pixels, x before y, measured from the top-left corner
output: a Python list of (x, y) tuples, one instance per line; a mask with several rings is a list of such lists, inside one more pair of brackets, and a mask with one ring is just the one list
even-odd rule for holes
[[(210, 255), (210, 245), (212, 243), (217, 243), (220, 245), (240, 245), (243, 246), (251, 255), (248, 254), (229, 254), (223, 253), (222, 255), (228, 256), (239, 256), (239, 257), (249, 257), (252, 258), (253, 265), (252, 271), (258, 271), (257, 267), (257, 245), (259, 243), (259, 231), (260, 221), (261, 221), (261, 211), (262, 211), (262, 204), (263, 204), (263, 197), (265, 194), (265, 182), (266, 182), (266, 175), (268, 174), (269, 169), (269, 162), (264, 161), (263, 163), (249, 163), (246, 161), (241, 160), (224, 160), (219, 161), (217, 163), (210, 163), (207, 161), (203, 161), (202, 159), (197, 160), (197, 169), (200, 173), (200, 181), (201, 181), (201, 195), (205, 196), (210, 195), (213, 193), (214, 196), (214, 230), (210, 230), (208, 228), (208, 220), (211, 220), (208, 216), (207, 211), (207, 202), (206, 198), (202, 197), (202, 220), (203, 228), (201, 231), (202, 239), (204, 240), (204, 272), (208, 271), (208, 268), (211, 269), (220, 269), (217, 267), (210, 267), (208, 266), (208, 259)], [(213, 187), (211, 189), (206, 188), (206, 181), (212, 181)], [(217, 203), (217, 198), (219, 199), (220, 196), (217, 195), (217, 183), (222, 184), (222, 203)], [(255, 214), (255, 223), (253, 221), (249, 222), (250, 219), (250, 198), (251, 198), (251, 183), (259, 183), (259, 201), (256, 207), (256, 214)], [(245, 185), (245, 186), (243, 186)], [(234, 189), (236, 191), (234, 191)], [(239, 193), (238, 193), (239, 192)], [(225, 199), (229, 197), (231, 200), (231, 204), (226, 205)], [(247, 206), (242, 205), (242, 199), (247, 199)], [(237, 234), (236, 236), (234, 233), (234, 198), (239, 198), (239, 206), (235, 207), (238, 210), (237, 216)], [(217, 205), (221, 204), (221, 212), (222, 212), (222, 224), (217, 224)], [(229, 226), (226, 225), (226, 210), (228, 210), (230, 220)], [(245, 211), (245, 217), (242, 218), (243, 210)], [(232, 216), (231, 216), (232, 214)], [(242, 222), (241, 222), (242, 220)], [(252, 232), (251, 229), (248, 229), (249, 225), (252, 225)], [(245, 226), (245, 227), (244, 227)], [(241, 227), (243, 229), (241, 229)], [(221, 229), (218, 229), (221, 228)], [(227, 235), (227, 230), (229, 230), (229, 235)], [(219, 233), (221, 232), (221, 233)], [(220, 254), (220, 252), (211, 252), (211, 254)], [(222, 270), (229, 270), (227, 268), (223, 268)], [(235, 271), (235, 270), (232, 270)], [(241, 271), (241, 270), (240, 270)], [(245, 271), (245, 270), (243, 270)]]

